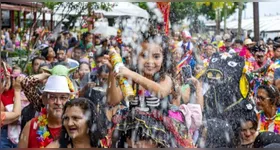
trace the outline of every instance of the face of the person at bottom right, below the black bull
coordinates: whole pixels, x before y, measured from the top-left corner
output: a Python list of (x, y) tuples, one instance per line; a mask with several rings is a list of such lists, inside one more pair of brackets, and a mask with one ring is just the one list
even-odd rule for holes
[(254, 129), (252, 121), (246, 121), (241, 124), (241, 139), (243, 143), (253, 142), (256, 137), (255, 135), (256, 129)]

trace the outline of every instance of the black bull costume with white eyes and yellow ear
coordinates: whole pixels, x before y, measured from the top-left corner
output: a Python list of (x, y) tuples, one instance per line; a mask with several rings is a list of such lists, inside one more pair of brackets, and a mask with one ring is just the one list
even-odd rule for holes
[[(245, 68), (245, 69), (244, 69)], [(227, 113), (249, 94), (244, 58), (229, 53), (213, 54), (206, 70), (205, 117), (228, 118)]]

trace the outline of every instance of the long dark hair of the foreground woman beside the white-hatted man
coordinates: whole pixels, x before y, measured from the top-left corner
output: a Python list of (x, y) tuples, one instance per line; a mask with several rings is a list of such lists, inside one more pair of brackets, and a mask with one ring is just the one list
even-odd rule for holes
[[(107, 117), (104, 110), (100, 109), (98, 105), (95, 105), (87, 98), (75, 98), (66, 102), (62, 116), (64, 116), (67, 108), (74, 106), (81, 108), (84, 114), (88, 117), (87, 126), (91, 147), (100, 147), (100, 140), (107, 135)], [(65, 118), (62, 117), (62, 123), (64, 122), (64, 119)], [(61, 128), (59, 144), (62, 148), (67, 148), (69, 144), (72, 144), (72, 139), (69, 137), (64, 126)]]

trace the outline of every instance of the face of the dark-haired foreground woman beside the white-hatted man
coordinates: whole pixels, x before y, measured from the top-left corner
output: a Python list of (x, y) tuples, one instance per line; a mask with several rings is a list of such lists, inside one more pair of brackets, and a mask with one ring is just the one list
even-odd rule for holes
[(88, 134), (87, 117), (79, 106), (66, 108), (63, 115), (63, 126), (72, 139)]

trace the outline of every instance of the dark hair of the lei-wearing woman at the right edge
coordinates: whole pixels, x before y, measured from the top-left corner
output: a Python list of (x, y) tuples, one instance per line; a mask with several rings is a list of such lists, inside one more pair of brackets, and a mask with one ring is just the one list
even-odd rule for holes
[(259, 89), (263, 89), (267, 92), (267, 96), (270, 98), (270, 102), (275, 104), (276, 106), (280, 106), (279, 98), (279, 90), (274, 85), (260, 85)]

